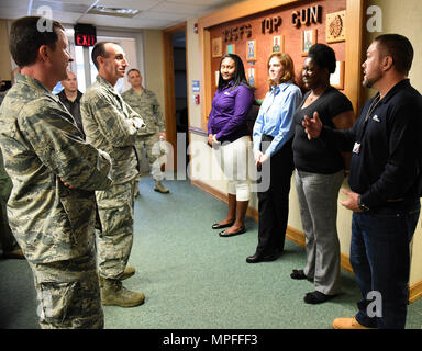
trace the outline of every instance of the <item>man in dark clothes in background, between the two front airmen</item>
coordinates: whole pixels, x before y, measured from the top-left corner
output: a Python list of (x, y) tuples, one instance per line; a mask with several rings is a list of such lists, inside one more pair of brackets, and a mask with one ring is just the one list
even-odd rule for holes
[(60, 81), (63, 90), (57, 94), (58, 99), (63, 102), (66, 109), (74, 116), (76, 125), (82, 132), (84, 138), (84, 127), (82, 127), (82, 117), (80, 116), (80, 99), (82, 93), (78, 90), (78, 80), (74, 72), (67, 72), (67, 78)]

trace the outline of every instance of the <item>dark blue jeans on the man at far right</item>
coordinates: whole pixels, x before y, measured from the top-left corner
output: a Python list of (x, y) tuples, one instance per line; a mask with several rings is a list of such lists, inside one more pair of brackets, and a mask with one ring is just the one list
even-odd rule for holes
[(406, 326), (409, 246), (420, 213), (420, 204), (415, 206), (402, 214), (353, 214), (351, 264), (363, 295), (355, 317), (363, 326)]

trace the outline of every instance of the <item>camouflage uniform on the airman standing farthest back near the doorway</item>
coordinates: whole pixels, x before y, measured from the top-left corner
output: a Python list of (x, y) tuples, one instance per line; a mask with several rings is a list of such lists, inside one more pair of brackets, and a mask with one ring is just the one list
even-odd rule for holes
[[(160, 165), (154, 165), (154, 162), (160, 154), (164, 154), (164, 150), (156, 149), (158, 145), (156, 143), (159, 141), (159, 133), (166, 131), (166, 121), (157, 98), (151, 90), (142, 89), (141, 91), (135, 91), (132, 88), (123, 92), (122, 98), (144, 118), (146, 129), (137, 134), (136, 151), (141, 156), (142, 149), (145, 147), (151, 167), (151, 176), (154, 180), (162, 181), (164, 172), (160, 170)], [(156, 148), (153, 149), (154, 145), (156, 145)]]

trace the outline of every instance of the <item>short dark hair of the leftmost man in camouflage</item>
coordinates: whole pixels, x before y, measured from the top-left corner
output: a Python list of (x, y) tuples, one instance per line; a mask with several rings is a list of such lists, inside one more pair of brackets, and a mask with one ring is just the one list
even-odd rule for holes
[[(40, 24), (48, 21), (52, 23), (52, 31), (45, 27), (43, 30), (46, 31), (41, 31)], [(15, 20), (10, 29), (9, 50), (16, 65), (25, 67), (34, 64), (42, 45), (55, 50), (58, 41), (56, 29), (65, 31), (59, 22), (42, 16), (31, 15)]]

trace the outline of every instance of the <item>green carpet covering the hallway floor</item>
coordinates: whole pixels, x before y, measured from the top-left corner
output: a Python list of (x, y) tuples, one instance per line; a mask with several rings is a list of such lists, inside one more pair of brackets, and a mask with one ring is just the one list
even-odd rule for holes
[[(136, 274), (124, 281), (142, 291), (135, 308), (104, 306), (108, 329), (331, 329), (335, 317), (353, 316), (359, 292), (342, 271), (343, 294), (321, 305), (307, 305), (308, 281), (290, 279), (303, 268), (304, 250), (286, 240), (274, 262), (247, 264), (255, 252), (257, 223), (247, 233), (220, 238), (211, 225), (226, 205), (191, 186), (166, 181), (170, 194), (153, 191), (144, 177), (135, 203), (135, 235), (130, 264)], [(295, 191), (295, 190), (292, 190)], [(38, 328), (32, 273), (25, 261), (0, 261), (0, 328)], [(421, 329), (422, 299), (409, 306), (407, 328)]]

